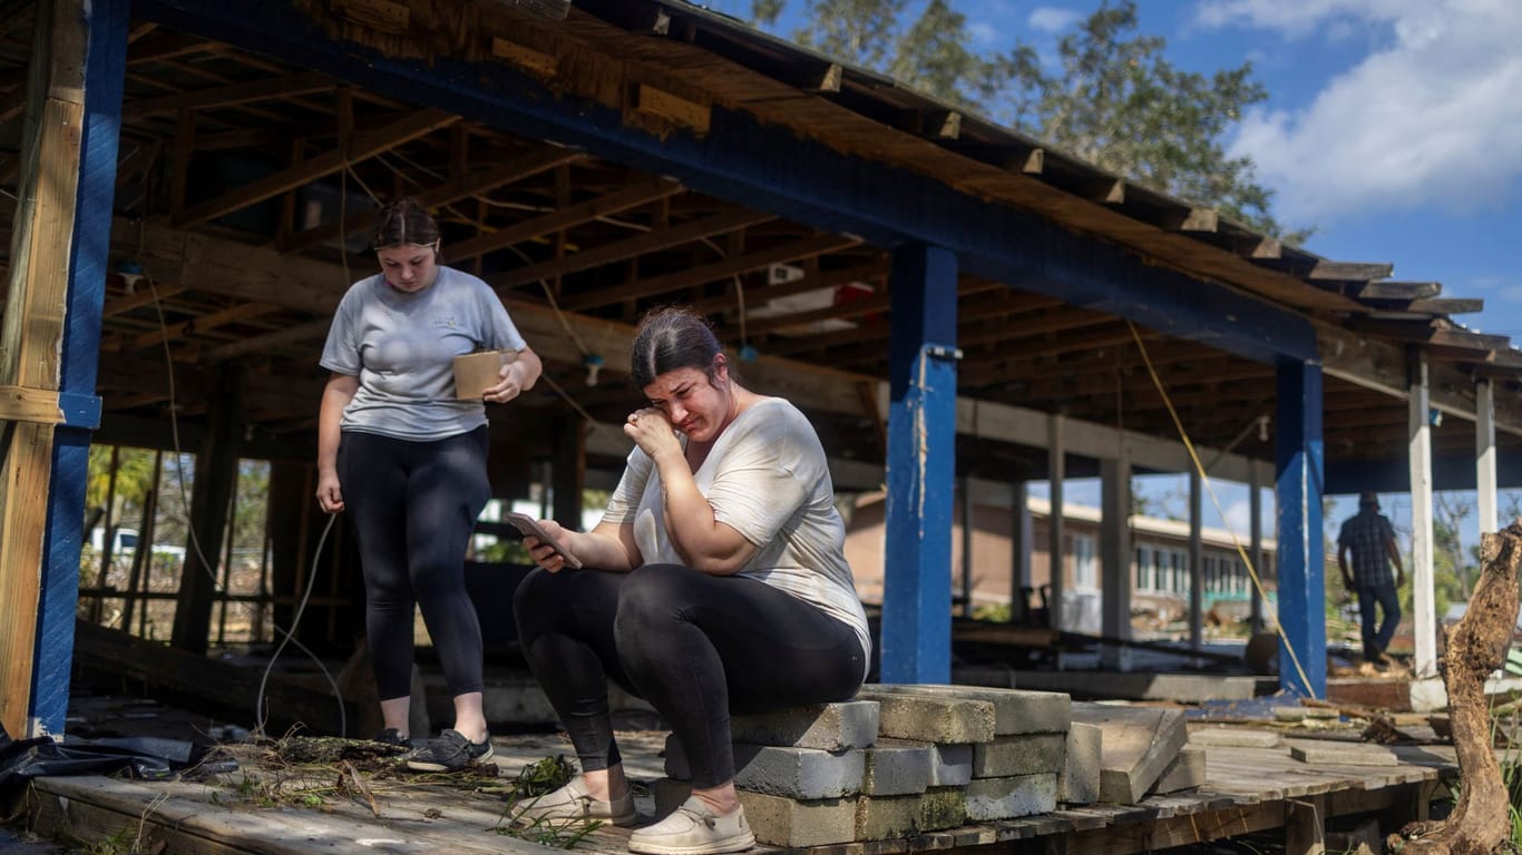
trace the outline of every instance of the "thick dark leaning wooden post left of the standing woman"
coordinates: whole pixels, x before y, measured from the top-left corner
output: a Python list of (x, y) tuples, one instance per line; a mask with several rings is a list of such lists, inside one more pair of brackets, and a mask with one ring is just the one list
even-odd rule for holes
[[(244, 432), (244, 388), (240, 365), (224, 362), (216, 368), (216, 394), (212, 396), (210, 426), (196, 453), (195, 485), (190, 490), (190, 542), (180, 569), (180, 599), (175, 604), (172, 642), (180, 650), (205, 653), (212, 630), (212, 599), (216, 593), (216, 560), (222, 554), (227, 508), (237, 485), (237, 447)], [(139, 545), (143, 548), (143, 545)]]

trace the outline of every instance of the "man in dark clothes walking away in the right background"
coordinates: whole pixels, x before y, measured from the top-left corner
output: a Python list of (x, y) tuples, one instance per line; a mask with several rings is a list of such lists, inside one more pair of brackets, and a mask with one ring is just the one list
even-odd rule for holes
[[(1359, 493), (1358, 514), (1342, 522), (1336, 539), (1336, 564), (1342, 571), (1347, 589), (1358, 595), (1358, 616), (1364, 624), (1364, 659), (1385, 666), (1385, 648), (1400, 624), (1400, 596), (1405, 584), (1405, 569), (1400, 566), (1400, 551), (1396, 548), (1396, 529), (1390, 517), (1379, 513), (1379, 496)], [(1348, 557), (1352, 555), (1352, 572)], [(1396, 572), (1391, 575), (1390, 566)], [(1374, 628), (1374, 604), (1379, 604), (1382, 621)]]

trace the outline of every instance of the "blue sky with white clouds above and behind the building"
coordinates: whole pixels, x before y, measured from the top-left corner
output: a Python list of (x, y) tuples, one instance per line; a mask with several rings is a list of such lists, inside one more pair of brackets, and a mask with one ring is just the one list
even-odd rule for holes
[[(750, 14), (750, 0), (708, 5)], [(922, 6), (910, 0), (909, 14)], [(788, 0), (775, 32), (790, 37), (807, 8)], [(1099, 0), (953, 8), (966, 15), (974, 47), (1006, 50), (1018, 38), (1050, 58)], [(1253, 62), (1268, 100), (1242, 117), (1230, 149), (1257, 164), (1282, 224), (1315, 228), (1306, 250), (1390, 262), (1393, 278), (1484, 298), (1484, 312), (1455, 319), (1522, 342), (1522, 271), (1511, 251), (1522, 234), (1522, 2), (1146, 0), (1138, 17), (1181, 68)], [(1233, 528), (1245, 529), (1245, 490), (1221, 491)], [(1218, 525), (1205, 504), (1207, 525)], [(1350, 505), (1339, 504), (1333, 520)], [(1403, 496), (1387, 497), (1385, 511), (1409, 526)]]

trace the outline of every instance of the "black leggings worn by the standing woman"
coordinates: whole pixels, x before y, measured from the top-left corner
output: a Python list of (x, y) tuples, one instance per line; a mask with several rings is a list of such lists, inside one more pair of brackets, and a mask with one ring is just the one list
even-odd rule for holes
[(412, 609), (452, 695), (481, 691), (481, 622), (466, 593), (466, 546), (492, 488), (487, 428), (417, 443), (345, 431), (338, 481), (359, 540), (365, 633), (380, 700), (412, 692)]

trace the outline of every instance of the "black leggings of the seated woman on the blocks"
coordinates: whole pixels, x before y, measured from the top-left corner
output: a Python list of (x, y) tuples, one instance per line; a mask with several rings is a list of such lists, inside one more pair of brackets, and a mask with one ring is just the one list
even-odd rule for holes
[(671, 726), (693, 785), (717, 787), (735, 776), (731, 712), (848, 700), (866, 671), (855, 631), (817, 607), (679, 564), (539, 569), (517, 587), (513, 613), (528, 666), (587, 771), (619, 762), (609, 679)]

